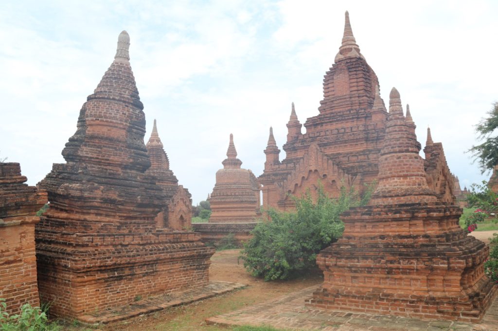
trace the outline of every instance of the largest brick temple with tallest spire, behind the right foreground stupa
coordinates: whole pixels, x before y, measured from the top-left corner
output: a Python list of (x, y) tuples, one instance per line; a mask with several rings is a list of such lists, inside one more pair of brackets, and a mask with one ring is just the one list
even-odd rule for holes
[[(324, 77), (318, 110), (317, 116), (304, 123), (303, 134), (292, 104), (282, 161), (270, 128), (264, 171), (258, 177), (264, 208), (292, 209), (289, 194), (301, 196), (307, 189), (313, 194), (319, 180), (325, 191), (336, 197), (341, 185), (362, 191), (364, 184), (377, 179), (388, 113), (377, 76), (356, 43), (348, 12), (335, 63)], [(424, 167), (428, 168), (429, 185), (437, 187), (444, 201), (453, 201), (454, 177), (444, 154), (438, 145), (429, 147), (427, 153)]]

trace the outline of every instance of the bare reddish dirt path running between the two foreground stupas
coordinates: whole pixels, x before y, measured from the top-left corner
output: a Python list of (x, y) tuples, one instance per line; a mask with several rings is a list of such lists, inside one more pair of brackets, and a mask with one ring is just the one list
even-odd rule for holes
[(133, 321), (105, 326), (102, 327), (101, 330), (227, 330), (215, 326), (208, 326), (204, 320), (208, 317), (227, 313), (254, 303), (265, 302), (289, 292), (320, 284), (323, 281), (321, 275), (312, 275), (306, 278), (285, 282), (265, 282), (262, 279), (252, 277), (244, 268), (242, 260), (240, 261), (240, 264), (237, 262), (239, 251), (239, 249), (229, 249), (216, 252), (211, 258), (212, 264), (209, 270), (209, 276), (210, 280), (223, 280), (248, 284), (249, 286), (247, 288), (190, 305), (154, 313)]

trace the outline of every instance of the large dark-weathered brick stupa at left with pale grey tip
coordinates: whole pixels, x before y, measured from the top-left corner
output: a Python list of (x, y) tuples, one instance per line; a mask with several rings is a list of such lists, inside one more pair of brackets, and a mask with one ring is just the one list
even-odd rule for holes
[(76, 133), (39, 186), (50, 208), (36, 229), (38, 286), (50, 312), (89, 315), (208, 283), (213, 248), (193, 232), (158, 229), (167, 192), (146, 173), (143, 104), (129, 64), (129, 36), (78, 118)]

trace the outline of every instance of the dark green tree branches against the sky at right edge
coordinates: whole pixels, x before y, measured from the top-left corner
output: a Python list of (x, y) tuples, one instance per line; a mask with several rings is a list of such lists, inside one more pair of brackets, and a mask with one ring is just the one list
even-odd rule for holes
[(484, 143), (472, 146), (467, 152), (472, 153), (474, 162), (479, 162), (481, 173), (493, 169), (498, 165), (498, 136), (492, 134), (498, 128), (498, 102), (493, 104), (493, 108), (488, 112), (488, 117), (482, 118), (476, 126), (479, 139), (484, 139)]

